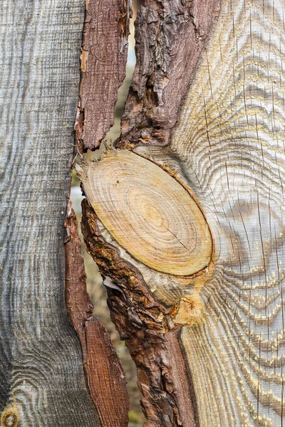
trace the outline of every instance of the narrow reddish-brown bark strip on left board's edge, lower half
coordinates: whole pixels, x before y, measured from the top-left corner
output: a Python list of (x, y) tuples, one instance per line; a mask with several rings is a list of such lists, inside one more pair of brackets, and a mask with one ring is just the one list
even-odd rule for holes
[(92, 316), (86, 290), (76, 214), (68, 204), (66, 227), (66, 307), (81, 341), (90, 395), (104, 427), (128, 425), (128, 392), (120, 359), (102, 322)]

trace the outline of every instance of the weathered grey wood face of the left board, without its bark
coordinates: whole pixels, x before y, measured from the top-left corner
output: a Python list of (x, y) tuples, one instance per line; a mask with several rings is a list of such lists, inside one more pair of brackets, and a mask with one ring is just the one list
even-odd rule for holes
[(98, 427), (63, 299), (81, 0), (2, 0), (2, 425)]

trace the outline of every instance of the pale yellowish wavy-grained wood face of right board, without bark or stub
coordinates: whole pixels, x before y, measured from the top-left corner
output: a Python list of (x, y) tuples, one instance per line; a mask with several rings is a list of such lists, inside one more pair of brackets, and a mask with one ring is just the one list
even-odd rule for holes
[(285, 423), (284, 10), (222, 0), (170, 147), (216, 243), (182, 332), (205, 427)]

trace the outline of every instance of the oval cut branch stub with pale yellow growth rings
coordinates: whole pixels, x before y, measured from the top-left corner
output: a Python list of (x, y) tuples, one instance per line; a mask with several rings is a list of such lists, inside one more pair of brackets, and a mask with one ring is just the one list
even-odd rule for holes
[(193, 195), (157, 164), (108, 150), (78, 173), (103, 226), (148, 267), (177, 276), (207, 268), (212, 236)]

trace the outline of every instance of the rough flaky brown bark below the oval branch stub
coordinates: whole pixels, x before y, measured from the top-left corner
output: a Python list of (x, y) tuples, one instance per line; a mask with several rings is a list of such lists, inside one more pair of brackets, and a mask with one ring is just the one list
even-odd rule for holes
[(137, 365), (145, 427), (197, 426), (178, 330), (167, 325), (171, 309), (152, 297), (140, 272), (105, 242), (86, 199), (82, 207), (88, 252), (105, 278), (111, 318)]

